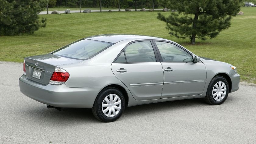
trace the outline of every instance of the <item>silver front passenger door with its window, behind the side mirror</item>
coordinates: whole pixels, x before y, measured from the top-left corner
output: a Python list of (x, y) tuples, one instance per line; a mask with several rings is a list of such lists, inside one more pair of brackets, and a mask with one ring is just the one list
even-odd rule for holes
[(164, 70), (161, 98), (201, 95), (206, 81), (204, 64), (194, 63), (192, 54), (176, 44), (154, 42)]

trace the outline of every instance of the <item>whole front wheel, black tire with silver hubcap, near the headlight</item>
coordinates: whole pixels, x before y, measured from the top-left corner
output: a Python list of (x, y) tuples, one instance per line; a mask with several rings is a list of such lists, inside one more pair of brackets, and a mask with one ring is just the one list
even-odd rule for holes
[(228, 97), (229, 84), (223, 76), (215, 76), (209, 83), (205, 101), (208, 104), (222, 104)]

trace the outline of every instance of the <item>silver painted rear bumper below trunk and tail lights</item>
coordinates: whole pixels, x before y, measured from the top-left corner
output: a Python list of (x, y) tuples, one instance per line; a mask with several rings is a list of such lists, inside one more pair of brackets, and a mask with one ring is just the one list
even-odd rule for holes
[(20, 91), (43, 104), (54, 107), (92, 108), (101, 87), (69, 88), (62, 85), (40, 85), (22, 75), (19, 79)]

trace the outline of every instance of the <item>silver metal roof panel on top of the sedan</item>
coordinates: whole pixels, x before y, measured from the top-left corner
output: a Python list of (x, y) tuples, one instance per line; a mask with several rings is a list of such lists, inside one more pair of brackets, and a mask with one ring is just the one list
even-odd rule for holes
[(159, 39), (158, 37), (149, 37), (149, 36), (132, 35), (132, 34), (102, 34), (102, 35), (86, 37), (86, 39), (105, 41), (105, 42), (109, 42), (109, 43), (117, 43), (122, 40), (141, 39), (141, 38)]

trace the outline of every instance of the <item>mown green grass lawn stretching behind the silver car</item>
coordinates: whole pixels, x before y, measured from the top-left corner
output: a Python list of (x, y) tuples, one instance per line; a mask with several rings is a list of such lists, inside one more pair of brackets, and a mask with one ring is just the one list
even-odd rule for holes
[[(24, 57), (45, 54), (83, 37), (105, 33), (127, 33), (162, 37), (182, 44), (198, 56), (235, 65), (242, 81), (256, 83), (256, 7), (242, 7), (242, 16), (232, 19), (229, 29), (209, 40), (170, 37), (157, 12), (92, 12), (40, 15), (47, 26), (33, 35), (0, 37), (0, 61), (22, 62)], [(166, 16), (169, 12), (164, 13)]]

